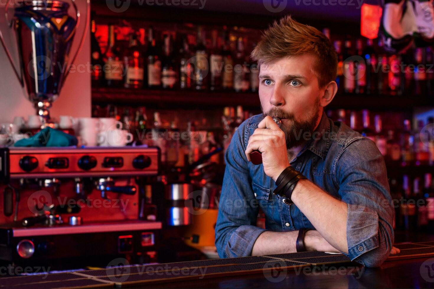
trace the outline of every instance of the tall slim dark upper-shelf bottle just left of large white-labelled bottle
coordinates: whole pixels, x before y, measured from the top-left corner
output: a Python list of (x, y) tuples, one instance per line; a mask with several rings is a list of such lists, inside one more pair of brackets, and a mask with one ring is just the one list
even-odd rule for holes
[(197, 44), (194, 48), (195, 67), (194, 67), (194, 80), (195, 88), (197, 90), (204, 90), (208, 88), (209, 81), (209, 65), (208, 65), (208, 50), (205, 46), (205, 32), (202, 26), (197, 28)]

